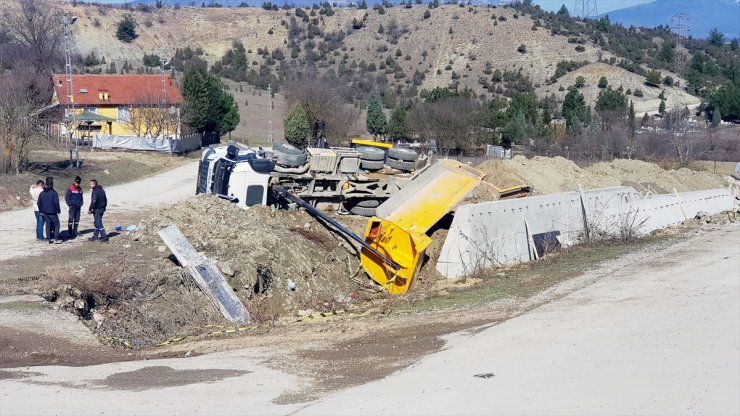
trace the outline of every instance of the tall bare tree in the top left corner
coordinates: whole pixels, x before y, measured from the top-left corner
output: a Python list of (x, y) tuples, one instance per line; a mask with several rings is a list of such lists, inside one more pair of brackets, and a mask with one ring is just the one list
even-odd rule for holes
[(13, 55), (27, 60), (36, 72), (49, 71), (62, 62), (64, 27), (59, 10), (51, 2), (11, 3), (0, 14), (0, 27), (10, 40), (7, 43), (16, 49)]

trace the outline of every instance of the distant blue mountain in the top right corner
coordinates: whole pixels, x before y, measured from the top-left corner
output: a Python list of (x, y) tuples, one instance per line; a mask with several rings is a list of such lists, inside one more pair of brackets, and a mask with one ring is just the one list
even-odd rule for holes
[(599, 17), (624, 26), (673, 27), (671, 18), (679, 13), (688, 17), (684, 36), (707, 38), (717, 28), (728, 40), (740, 38), (740, 2), (737, 0), (685, 1), (656, 0), (647, 4), (612, 10)]

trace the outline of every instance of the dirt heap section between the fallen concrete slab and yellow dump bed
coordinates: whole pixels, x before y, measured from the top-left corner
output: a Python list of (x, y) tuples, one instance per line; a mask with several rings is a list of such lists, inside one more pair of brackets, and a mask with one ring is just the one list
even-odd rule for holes
[(157, 235), (169, 224), (216, 262), (259, 321), (325, 309), (357, 289), (349, 279), (358, 268), (357, 256), (306, 212), (266, 206), (243, 210), (199, 196), (161, 209), (131, 238), (169, 254)]

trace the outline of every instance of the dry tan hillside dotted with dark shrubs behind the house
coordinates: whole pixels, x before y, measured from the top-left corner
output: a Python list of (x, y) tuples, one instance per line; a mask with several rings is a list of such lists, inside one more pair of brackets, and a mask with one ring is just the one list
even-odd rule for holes
[[(351, 99), (363, 99), (363, 94), (380, 88), (382, 95), (394, 96), (389, 101), (402, 100), (448, 86), (467, 88), (482, 99), (490, 99), (510, 96), (516, 87), (513, 84), (520, 82), (540, 94), (562, 96), (558, 89), (567, 86), (572, 77), (550, 84), (558, 63), (570, 60), (588, 61), (580, 72), (606, 76), (615, 87), (644, 82), (642, 75), (608, 64), (610, 59), (617, 63), (618, 57), (589, 39), (553, 34), (508, 7), (440, 6), (430, 10), (426, 5), (413, 5), (385, 8), (382, 14), (373, 9), (336, 8), (331, 16), (312, 10), (306, 11), (304, 18), (296, 16), (300, 14), (296, 9), (63, 7), (79, 17), (73, 29), (75, 49), (81, 57), (95, 53), (108, 63), (114, 61), (117, 68), (124, 61), (136, 68), (143, 65), (144, 54), (171, 57), (177, 48), (188, 46), (202, 49), (202, 58), (213, 64), (238, 41), (244, 45), (250, 70), (269, 72), (279, 80), (290, 71), (316, 68), (319, 73), (340, 78)], [(115, 37), (116, 24), (127, 13), (137, 21), (139, 33), (128, 44)], [(272, 59), (261, 54), (264, 50), (273, 55), (279, 50), (284, 58)], [(496, 70), (509, 73), (513, 80), (495, 81), (492, 74)], [(682, 80), (677, 74), (666, 75)], [(368, 83), (368, 78), (373, 82)], [(258, 87), (267, 83), (264, 79), (249, 81)], [(668, 106), (699, 102), (680, 88), (666, 89), (671, 92), (669, 97), (675, 97), (675, 103), (669, 98)], [(595, 97), (596, 82), (588, 82), (584, 92)], [(634, 97), (637, 110), (654, 110), (654, 99), (650, 94)]]

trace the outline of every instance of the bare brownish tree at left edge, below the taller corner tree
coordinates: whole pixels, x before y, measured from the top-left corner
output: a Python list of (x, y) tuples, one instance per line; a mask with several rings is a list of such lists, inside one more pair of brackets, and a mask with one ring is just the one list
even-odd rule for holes
[(44, 110), (51, 100), (51, 80), (32, 71), (0, 73), (0, 147), (5, 173), (20, 173), (30, 146), (44, 137)]

